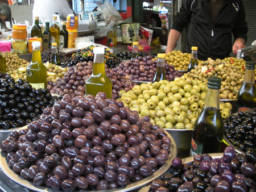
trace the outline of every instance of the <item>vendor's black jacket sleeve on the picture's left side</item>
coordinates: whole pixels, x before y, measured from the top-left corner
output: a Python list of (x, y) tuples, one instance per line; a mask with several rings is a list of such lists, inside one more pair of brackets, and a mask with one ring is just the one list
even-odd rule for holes
[(187, 26), (192, 15), (192, 4), (195, 0), (183, 0), (180, 11), (177, 13), (174, 23), (172, 23), (172, 29), (177, 30), (180, 33), (183, 28)]

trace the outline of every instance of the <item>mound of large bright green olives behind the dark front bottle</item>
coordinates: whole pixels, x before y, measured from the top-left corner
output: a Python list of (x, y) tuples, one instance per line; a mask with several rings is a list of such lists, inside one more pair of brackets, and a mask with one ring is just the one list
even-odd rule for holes
[[(204, 106), (207, 85), (186, 76), (174, 81), (159, 81), (135, 85), (132, 90), (121, 90), (119, 99), (140, 116), (150, 116), (151, 123), (162, 128), (191, 129)], [(223, 119), (230, 116), (232, 105), (221, 103)]]

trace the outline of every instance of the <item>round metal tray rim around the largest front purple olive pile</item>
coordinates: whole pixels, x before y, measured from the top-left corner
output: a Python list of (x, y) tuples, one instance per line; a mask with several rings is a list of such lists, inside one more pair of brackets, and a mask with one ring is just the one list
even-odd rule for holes
[[(113, 191), (121, 192), (122, 191), (123, 192), (123, 191), (135, 190), (135, 189), (141, 188), (145, 185), (148, 185), (148, 183), (156, 180), (156, 178), (159, 178), (160, 176), (162, 176), (162, 174), (166, 173), (167, 170), (171, 166), (172, 159), (175, 158), (177, 155), (177, 147), (176, 147), (174, 138), (170, 135), (170, 133), (168, 133), (167, 131), (165, 131), (165, 132), (167, 133), (167, 136), (170, 137), (170, 139), (171, 139), (170, 154), (166, 161), (166, 164), (164, 164), (158, 170), (156, 170), (156, 172), (151, 174), (150, 177), (146, 177), (141, 181), (131, 183), (130, 185), (127, 185), (126, 187), (118, 187), (117, 189), (101, 190), (101, 192), (102, 191), (104, 191), (104, 192), (113, 192)], [(5, 173), (6, 176), (10, 178), (10, 180), (13, 180), (14, 182), (18, 183), (19, 185), (26, 187), (27, 189), (34, 190), (34, 191), (40, 191), (40, 192), (56, 191), (51, 188), (43, 187), (43, 186), (36, 187), (32, 184), (32, 182), (27, 181), (24, 178), (20, 177), (18, 174), (14, 173), (13, 170), (11, 168), (9, 168), (9, 166), (7, 164), (7, 161), (5, 158), (6, 153), (2, 152), (1, 150), (0, 150), (0, 152), (1, 152), (0, 168), (2, 169), (3, 173)], [(60, 191), (63, 191), (63, 190), (60, 190)], [(100, 192), (100, 191), (97, 191), (97, 192)]]

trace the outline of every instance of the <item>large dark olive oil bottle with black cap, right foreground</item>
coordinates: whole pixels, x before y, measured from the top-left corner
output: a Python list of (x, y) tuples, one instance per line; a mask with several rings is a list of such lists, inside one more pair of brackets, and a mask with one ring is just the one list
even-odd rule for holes
[(224, 136), (224, 124), (220, 113), (221, 78), (209, 77), (207, 86), (204, 108), (193, 128), (191, 156), (221, 151)]

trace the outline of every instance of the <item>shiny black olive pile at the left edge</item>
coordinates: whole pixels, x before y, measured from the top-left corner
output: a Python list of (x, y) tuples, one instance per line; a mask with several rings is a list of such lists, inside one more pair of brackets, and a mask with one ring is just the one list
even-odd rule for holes
[(22, 127), (39, 118), (44, 108), (59, 99), (47, 89), (34, 89), (27, 81), (0, 74), (0, 129)]

